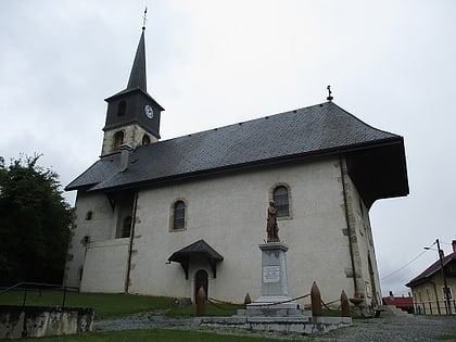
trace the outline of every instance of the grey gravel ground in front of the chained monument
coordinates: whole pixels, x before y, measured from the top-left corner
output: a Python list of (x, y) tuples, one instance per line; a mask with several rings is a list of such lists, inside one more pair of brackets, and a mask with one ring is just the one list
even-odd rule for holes
[[(173, 319), (163, 317), (163, 312), (134, 315), (121, 319), (94, 322), (96, 330), (127, 330), (127, 329), (188, 329), (211, 331), (200, 328), (193, 318)], [(280, 340), (303, 339), (296, 334), (277, 332), (252, 332), (240, 329), (219, 329), (217, 333), (249, 334), (277, 338)], [(452, 338), (449, 338), (452, 337)], [(329, 333), (313, 338), (315, 342), (384, 342), (384, 341), (456, 341), (456, 317), (391, 317), (355, 319), (353, 326), (332, 330)]]

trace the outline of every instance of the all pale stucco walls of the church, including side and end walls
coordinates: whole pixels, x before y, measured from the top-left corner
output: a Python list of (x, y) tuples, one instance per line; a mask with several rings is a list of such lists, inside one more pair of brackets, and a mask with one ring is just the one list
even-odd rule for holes
[[(130, 293), (187, 296), (194, 294), (194, 275), (208, 274), (211, 297), (242, 302), (246, 292), (261, 294), (259, 243), (266, 239), (266, 217), (270, 191), (278, 185), (290, 189), (290, 217), (279, 218), (279, 237), (287, 253), (289, 290), (292, 297), (309, 293), (317, 282), (322, 300), (331, 302), (345, 290), (355, 295), (340, 162), (313, 160), (278, 167), (180, 181), (139, 191), (129, 277)], [(355, 232), (358, 294), (367, 296), (371, 282), (370, 255), (377, 291), (377, 264), (368, 212), (360, 208), (355, 186), (345, 174), (345, 190), (352, 228)], [(183, 200), (186, 229), (170, 231), (173, 203)], [(115, 239), (117, 220), (125, 212), (122, 201), (112, 208), (106, 195), (79, 193), (77, 227), (68, 253), (66, 284), (78, 284), (84, 264), (81, 290), (122, 292), (125, 289), (129, 239)], [(132, 203), (131, 206), (132, 207)], [(86, 214), (92, 211), (92, 219)], [(124, 213), (125, 214), (125, 213)], [(81, 243), (90, 236), (90, 243)], [(180, 264), (167, 263), (176, 251), (204, 239), (224, 256), (217, 277), (205, 259), (192, 259), (189, 279)], [(372, 293), (372, 295), (375, 295)], [(372, 296), (371, 295), (371, 296)], [(369, 302), (371, 299), (367, 299)], [(301, 303), (307, 304), (303, 300)]]

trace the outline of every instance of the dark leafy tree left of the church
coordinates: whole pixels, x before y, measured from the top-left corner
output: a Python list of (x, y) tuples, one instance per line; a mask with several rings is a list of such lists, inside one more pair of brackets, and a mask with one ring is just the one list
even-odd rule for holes
[(59, 176), (37, 165), (39, 155), (0, 156), (0, 282), (61, 283), (72, 210)]

